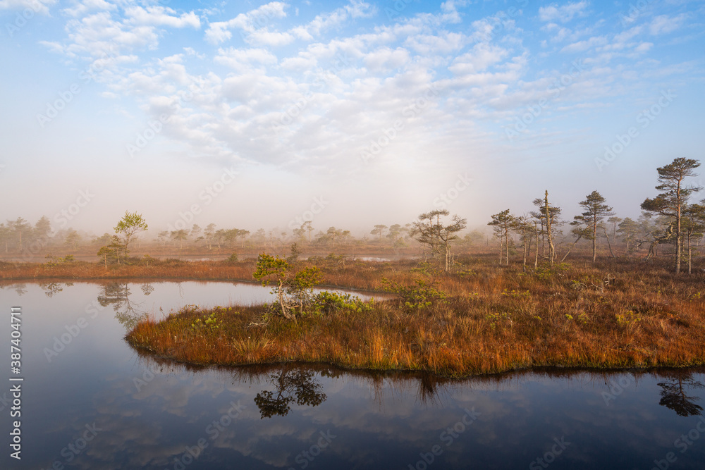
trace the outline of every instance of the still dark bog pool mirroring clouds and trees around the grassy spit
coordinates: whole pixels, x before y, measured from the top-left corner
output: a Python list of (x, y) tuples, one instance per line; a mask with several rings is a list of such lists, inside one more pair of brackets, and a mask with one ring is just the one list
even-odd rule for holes
[[(448, 381), (320, 364), (197, 369), (123, 340), (147, 314), (269, 298), (236, 283), (0, 284), (0, 468), (705, 468), (702, 370)], [(19, 375), (11, 307), (22, 312)], [(8, 378), (20, 376), (11, 418)]]

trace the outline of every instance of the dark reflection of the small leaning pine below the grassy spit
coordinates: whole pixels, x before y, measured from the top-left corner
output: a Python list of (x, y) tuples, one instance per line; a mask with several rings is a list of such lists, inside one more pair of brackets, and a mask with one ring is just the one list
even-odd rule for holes
[(262, 419), (271, 418), (274, 415), (286, 416), (292, 402), (316, 407), (327, 398), (326, 394), (321, 392), (322, 385), (314, 381), (313, 371), (288, 367), (281, 372), (271, 374), (268, 381), (276, 387), (276, 390), (274, 392), (262, 390), (255, 397), (255, 404), (262, 414)]

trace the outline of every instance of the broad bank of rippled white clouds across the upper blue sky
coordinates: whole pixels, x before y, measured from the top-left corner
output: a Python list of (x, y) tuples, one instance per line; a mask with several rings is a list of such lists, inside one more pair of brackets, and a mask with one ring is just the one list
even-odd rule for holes
[[(630, 61), (656, 49), (639, 39), (648, 23), (616, 35), (600, 20), (566, 27), (584, 15), (587, 1), (542, 7), (545, 23), (530, 44), (517, 27), (522, 16), (466, 20), (470, 12), (458, 13), (460, 1), (387, 24), (378, 24), (384, 15), (360, 20), (375, 12), (362, 1), (305, 20), (288, 17), (288, 4), (274, 1), (213, 23), (206, 18), (214, 13), (133, 3), (115, 11), (99, 8), (102, 0), (90, 0), (88, 8), (88, 1), (68, 19), (66, 38), (43, 44), (75, 61), (112, 47), (105, 49), (111, 53), (100, 80), (105, 97), (131, 97), (145, 119), (168, 113), (160, 137), (178, 143), (173, 147), (184, 156), (286, 168), (360, 171), (360, 150), (399, 119), (404, 130), (381, 166), (403, 160), (403, 152), (422, 159), (425, 151), (453, 154), (462, 145), (439, 142), (442, 136), (484, 142), (497, 132), (495, 123), (552, 98), (551, 82), (570, 69), (573, 57), (534, 54), (541, 39), (547, 49), (558, 43), (557, 50), (604, 70), (589, 80), (587, 73), (575, 77), (551, 111), (578, 109), (581, 100), (594, 100), (596, 89), (608, 96), (620, 77), (639, 76)], [(201, 23), (200, 42), (179, 42), (170, 31)], [(167, 35), (174, 42), (161, 44)], [(619, 66), (607, 65), (618, 60)], [(429, 89), (436, 91), (426, 97)], [(417, 100), (423, 109), (410, 111)], [(541, 130), (539, 139), (551, 135)]]

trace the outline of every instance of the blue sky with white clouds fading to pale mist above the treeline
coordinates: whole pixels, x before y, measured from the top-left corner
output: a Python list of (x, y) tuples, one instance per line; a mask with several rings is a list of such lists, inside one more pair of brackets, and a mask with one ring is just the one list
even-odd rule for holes
[(485, 226), (545, 190), (568, 219), (593, 190), (635, 217), (658, 166), (702, 161), (704, 20), (689, 0), (0, 0), (0, 220), (363, 234), (434, 209)]

